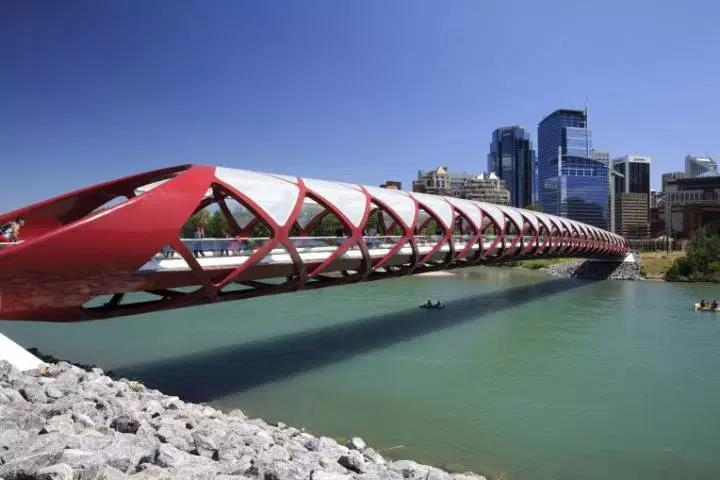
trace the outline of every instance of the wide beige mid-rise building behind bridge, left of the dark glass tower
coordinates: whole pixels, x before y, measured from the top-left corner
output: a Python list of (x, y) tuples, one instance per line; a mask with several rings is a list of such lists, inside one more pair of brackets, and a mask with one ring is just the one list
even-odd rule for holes
[(418, 171), (418, 178), (413, 181), (413, 192), (466, 198), (499, 205), (507, 205), (510, 199), (505, 182), (497, 175), (451, 173), (445, 166), (435, 170)]

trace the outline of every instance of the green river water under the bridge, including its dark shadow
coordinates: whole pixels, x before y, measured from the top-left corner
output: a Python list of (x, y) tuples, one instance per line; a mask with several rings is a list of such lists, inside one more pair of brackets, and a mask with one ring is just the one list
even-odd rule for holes
[[(490, 478), (720, 478), (708, 284), (474, 268), (84, 324), (25, 346)], [(427, 298), (447, 308), (417, 308)]]

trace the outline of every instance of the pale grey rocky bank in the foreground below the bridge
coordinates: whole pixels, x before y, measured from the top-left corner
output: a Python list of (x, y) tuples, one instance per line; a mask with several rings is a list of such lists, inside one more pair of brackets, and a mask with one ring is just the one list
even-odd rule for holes
[(0, 361), (0, 480), (485, 480), (390, 461), (282, 423), (188, 403), (66, 362)]

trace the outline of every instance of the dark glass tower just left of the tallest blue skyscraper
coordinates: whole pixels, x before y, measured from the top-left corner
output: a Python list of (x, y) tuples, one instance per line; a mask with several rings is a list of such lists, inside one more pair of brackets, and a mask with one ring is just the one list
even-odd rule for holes
[(519, 126), (501, 127), (492, 133), (487, 171), (495, 172), (510, 190), (510, 205), (533, 202), (535, 150), (530, 134)]

